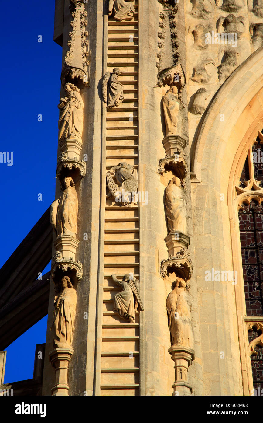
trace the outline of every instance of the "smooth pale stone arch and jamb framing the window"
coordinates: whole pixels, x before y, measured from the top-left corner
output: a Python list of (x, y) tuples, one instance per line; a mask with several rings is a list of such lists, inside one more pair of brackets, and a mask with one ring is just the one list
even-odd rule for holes
[[(262, 129), (261, 63), (259, 49), (225, 82), (205, 115), (191, 155), (200, 181), (192, 182), (193, 223), (206, 395), (249, 395), (252, 388), (239, 227), (232, 202), (239, 157), (247, 154), (244, 146)], [(204, 272), (212, 268), (237, 270), (237, 284), (205, 282)]]

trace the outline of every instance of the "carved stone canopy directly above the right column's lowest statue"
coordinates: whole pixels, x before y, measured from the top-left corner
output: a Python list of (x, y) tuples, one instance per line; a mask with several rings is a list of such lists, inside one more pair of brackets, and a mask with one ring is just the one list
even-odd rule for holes
[(189, 280), (193, 274), (192, 260), (189, 258), (190, 253), (186, 248), (182, 248), (180, 253), (174, 257), (171, 255), (161, 261), (160, 275), (162, 277), (168, 276), (169, 273), (175, 272), (176, 275), (182, 277), (184, 280)]

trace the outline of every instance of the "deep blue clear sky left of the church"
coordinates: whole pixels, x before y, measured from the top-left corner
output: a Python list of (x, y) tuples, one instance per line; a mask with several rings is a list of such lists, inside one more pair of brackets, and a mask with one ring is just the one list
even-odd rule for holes
[[(62, 59), (53, 41), (54, 7), (55, 0), (16, 2), (15, 18), (2, 19), (0, 151), (13, 152), (13, 165), (0, 163), (0, 267), (54, 201)], [(7, 348), (5, 383), (33, 376), (35, 344), (45, 342), (46, 320)]]

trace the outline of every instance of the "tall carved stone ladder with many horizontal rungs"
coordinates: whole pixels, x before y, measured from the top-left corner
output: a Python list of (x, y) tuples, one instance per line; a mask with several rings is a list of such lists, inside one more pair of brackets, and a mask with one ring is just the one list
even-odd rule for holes
[[(105, 71), (118, 67), (124, 97), (118, 107), (106, 111), (106, 168), (119, 162), (138, 168), (138, 1), (131, 21), (108, 19), (108, 62)], [(127, 208), (106, 200), (105, 258), (103, 283), (103, 334), (101, 353), (101, 395), (139, 394), (139, 317), (135, 323), (113, 311), (113, 297), (120, 288), (111, 279), (139, 272), (138, 206)]]

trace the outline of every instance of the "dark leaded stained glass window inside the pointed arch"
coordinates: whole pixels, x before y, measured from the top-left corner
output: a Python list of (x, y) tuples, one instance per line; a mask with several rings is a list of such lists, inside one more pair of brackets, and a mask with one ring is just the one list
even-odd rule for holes
[[(247, 317), (263, 316), (263, 132), (249, 146), (247, 159), (236, 187), (240, 195), (239, 231)], [(255, 199), (253, 199), (255, 197)], [(250, 199), (250, 202), (248, 201)], [(252, 198), (252, 199), (251, 199)], [(249, 204), (246, 204), (248, 203)], [(249, 327), (249, 346), (262, 335)], [(254, 345), (254, 344), (253, 344)], [(263, 388), (263, 347), (255, 341), (251, 356), (254, 389)]]

